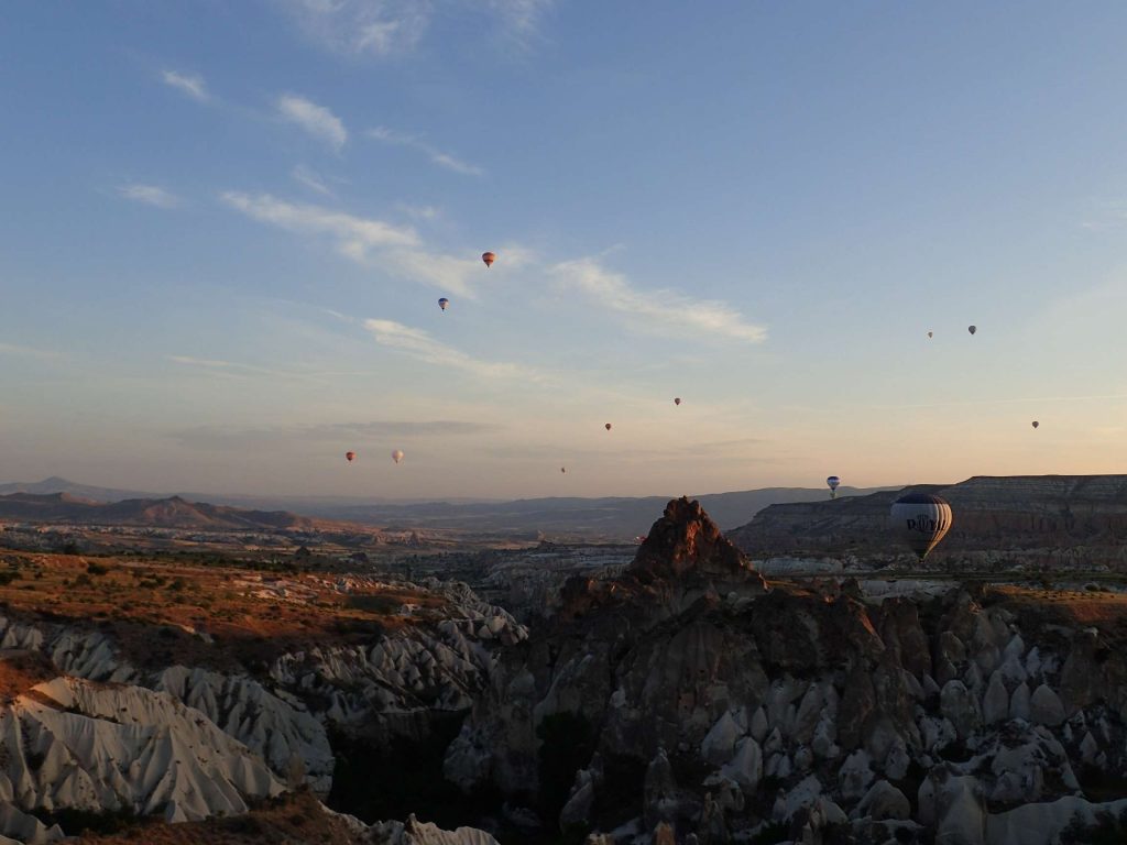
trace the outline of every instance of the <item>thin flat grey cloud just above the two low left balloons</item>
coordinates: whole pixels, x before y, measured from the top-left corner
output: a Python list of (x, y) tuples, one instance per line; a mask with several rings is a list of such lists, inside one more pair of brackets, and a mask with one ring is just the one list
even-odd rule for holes
[[(371, 420), (365, 422), (325, 422), (312, 426), (264, 428), (215, 428), (201, 426), (174, 433), (174, 437), (192, 448), (233, 448), (256, 444), (277, 445), (291, 441), (301, 443), (339, 441), (357, 448), (365, 442), (397, 437), (459, 437), (502, 430), (500, 426), (458, 419)], [(363, 451), (361, 450), (363, 456)]]

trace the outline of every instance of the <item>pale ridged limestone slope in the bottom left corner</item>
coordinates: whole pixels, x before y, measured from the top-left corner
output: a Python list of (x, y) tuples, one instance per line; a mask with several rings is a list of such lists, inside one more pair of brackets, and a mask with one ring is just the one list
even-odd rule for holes
[(131, 809), (189, 821), (248, 810), (282, 783), (245, 745), (167, 693), (76, 678), (0, 710), (0, 801)]

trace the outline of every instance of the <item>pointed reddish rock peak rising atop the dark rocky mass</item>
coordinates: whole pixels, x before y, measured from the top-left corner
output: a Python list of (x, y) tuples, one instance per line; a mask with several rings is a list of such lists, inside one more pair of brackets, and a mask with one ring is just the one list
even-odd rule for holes
[(683, 496), (665, 506), (627, 570), (641, 581), (701, 576), (710, 579), (761, 580), (751, 561), (704, 513), (699, 501)]

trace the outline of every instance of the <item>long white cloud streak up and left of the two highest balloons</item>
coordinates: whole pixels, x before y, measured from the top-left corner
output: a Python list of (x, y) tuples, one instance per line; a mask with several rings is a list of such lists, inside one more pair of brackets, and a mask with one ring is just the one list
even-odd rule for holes
[(357, 217), (319, 205), (287, 203), (269, 194), (241, 194), (229, 190), (221, 199), (232, 208), (261, 223), (270, 223), (299, 234), (327, 234), (337, 242), (341, 255), (364, 260), (371, 250), (412, 247), (418, 235), (411, 229), (393, 226), (381, 220)]

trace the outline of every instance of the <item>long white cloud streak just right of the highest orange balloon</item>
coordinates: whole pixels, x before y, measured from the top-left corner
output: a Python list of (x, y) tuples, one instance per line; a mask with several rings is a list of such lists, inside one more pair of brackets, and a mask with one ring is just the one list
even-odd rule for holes
[(635, 318), (631, 324), (642, 330), (745, 344), (766, 339), (766, 329), (745, 322), (727, 303), (694, 300), (669, 290), (641, 291), (625, 276), (606, 270), (592, 258), (558, 264), (551, 273), (566, 287), (585, 293), (603, 308), (630, 314)]

